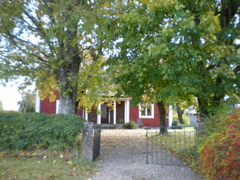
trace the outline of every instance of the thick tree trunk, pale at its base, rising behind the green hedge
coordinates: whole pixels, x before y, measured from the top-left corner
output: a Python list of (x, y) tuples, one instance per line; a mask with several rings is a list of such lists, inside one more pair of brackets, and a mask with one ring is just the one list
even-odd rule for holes
[[(76, 6), (80, 6), (81, 2), (76, 1)], [(74, 7), (70, 6), (68, 11), (72, 11)], [(77, 112), (77, 94), (78, 94), (78, 77), (79, 67), (82, 62), (80, 57), (81, 51), (76, 41), (78, 37), (78, 20), (71, 19), (71, 14), (64, 16), (64, 21), (72, 20), (69, 26), (63, 27), (63, 31), (67, 32), (66, 40), (60, 36), (59, 42), (59, 59), (63, 61), (61, 67), (56, 70), (56, 79), (58, 82), (60, 93), (59, 113), (76, 114)]]

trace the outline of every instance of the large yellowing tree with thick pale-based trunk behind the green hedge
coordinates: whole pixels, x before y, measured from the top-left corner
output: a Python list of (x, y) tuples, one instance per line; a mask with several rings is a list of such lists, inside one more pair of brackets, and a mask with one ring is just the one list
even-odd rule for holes
[(110, 36), (107, 5), (101, 0), (1, 1), (1, 78), (36, 81), (42, 97), (54, 98), (57, 89), (60, 113), (74, 114), (89, 87), (101, 91), (102, 76), (95, 75)]

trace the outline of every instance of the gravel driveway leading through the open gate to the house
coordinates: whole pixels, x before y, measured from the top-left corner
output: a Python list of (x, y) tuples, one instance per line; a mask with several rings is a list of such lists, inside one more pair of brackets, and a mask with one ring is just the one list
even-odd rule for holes
[(89, 180), (202, 180), (187, 167), (146, 164), (146, 131), (102, 130), (100, 169)]

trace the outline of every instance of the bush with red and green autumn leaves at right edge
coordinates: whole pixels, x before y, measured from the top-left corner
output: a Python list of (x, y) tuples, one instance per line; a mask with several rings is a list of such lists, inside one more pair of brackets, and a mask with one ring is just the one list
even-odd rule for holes
[(240, 111), (207, 122), (199, 169), (210, 179), (240, 179)]

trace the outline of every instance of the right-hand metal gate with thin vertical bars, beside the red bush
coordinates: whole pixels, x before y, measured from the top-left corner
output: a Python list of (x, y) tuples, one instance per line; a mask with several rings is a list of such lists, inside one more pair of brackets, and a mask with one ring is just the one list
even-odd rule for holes
[[(164, 132), (160, 132), (160, 129)], [(147, 164), (185, 166), (179, 157), (189, 158), (189, 151), (196, 150), (196, 129), (194, 126), (160, 127), (147, 129)]]

